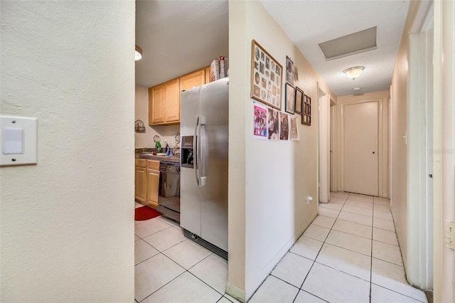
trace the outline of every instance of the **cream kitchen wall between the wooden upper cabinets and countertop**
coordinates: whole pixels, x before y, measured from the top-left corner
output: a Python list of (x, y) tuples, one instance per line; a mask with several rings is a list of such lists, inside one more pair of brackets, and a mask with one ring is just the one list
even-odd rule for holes
[(137, 149), (155, 147), (154, 136), (161, 138), (161, 146), (165, 147), (164, 140), (168, 140), (169, 147), (179, 147), (173, 135), (180, 132), (180, 125), (149, 126), (149, 89), (136, 85), (134, 121), (140, 119), (144, 122), (145, 132), (134, 133), (134, 147)]

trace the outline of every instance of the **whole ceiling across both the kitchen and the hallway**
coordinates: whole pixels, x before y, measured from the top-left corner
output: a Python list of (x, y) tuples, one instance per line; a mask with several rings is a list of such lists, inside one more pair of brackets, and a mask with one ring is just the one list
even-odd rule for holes
[[(406, 1), (260, 0), (337, 96), (387, 90), (407, 9)], [(163, 83), (228, 56), (228, 1), (137, 1), (136, 41), (143, 58), (136, 84)], [(378, 26), (378, 48), (326, 61), (318, 44)], [(305, 30), (302, 30), (304, 28)], [(365, 66), (351, 80), (343, 70)]]

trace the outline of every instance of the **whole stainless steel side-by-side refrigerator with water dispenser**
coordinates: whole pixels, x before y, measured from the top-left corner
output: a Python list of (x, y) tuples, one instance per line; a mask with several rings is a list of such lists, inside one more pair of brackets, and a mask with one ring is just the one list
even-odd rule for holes
[(183, 233), (227, 259), (229, 79), (181, 92)]

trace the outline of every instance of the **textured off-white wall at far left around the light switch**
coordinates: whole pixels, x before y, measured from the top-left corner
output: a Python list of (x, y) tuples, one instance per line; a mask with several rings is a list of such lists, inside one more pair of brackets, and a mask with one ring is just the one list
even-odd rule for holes
[(134, 301), (134, 1), (1, 1), (1, 302)]

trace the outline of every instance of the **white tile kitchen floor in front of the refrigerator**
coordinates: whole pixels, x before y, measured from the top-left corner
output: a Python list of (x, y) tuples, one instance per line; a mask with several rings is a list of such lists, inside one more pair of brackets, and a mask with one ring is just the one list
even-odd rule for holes
[(136, 302), (237, 303), (225, 294), (227, 261), (185, 238), (172, 220), (160, 216), (135, 223)]

